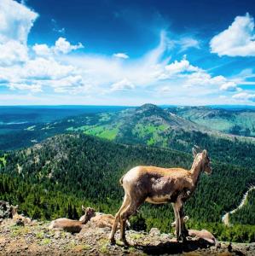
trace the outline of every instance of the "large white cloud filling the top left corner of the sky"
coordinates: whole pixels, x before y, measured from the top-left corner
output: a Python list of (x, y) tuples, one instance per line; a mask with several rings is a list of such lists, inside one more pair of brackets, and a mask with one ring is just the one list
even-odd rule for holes
[(15, 40), (26, 44), (38, 14), (13, 0), (0, 1), (0, 43)]

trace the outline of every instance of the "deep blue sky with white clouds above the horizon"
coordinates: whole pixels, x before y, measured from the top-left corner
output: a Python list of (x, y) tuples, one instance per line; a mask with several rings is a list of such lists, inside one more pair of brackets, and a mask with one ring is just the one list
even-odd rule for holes
[(0, 105), (255, 105), (255, 3), (0, 0)]

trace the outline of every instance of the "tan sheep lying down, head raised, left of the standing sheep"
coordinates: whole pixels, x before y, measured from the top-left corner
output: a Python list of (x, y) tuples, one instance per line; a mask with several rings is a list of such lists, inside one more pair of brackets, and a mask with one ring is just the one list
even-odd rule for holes
[(82, 220), (57, 218), (49, 224), (49, 230), (65, 230), (71, 233), (78, 233), (93, 216), (95, 216), (95, 210), (87, 207), (84, 216), (81, 217)]

